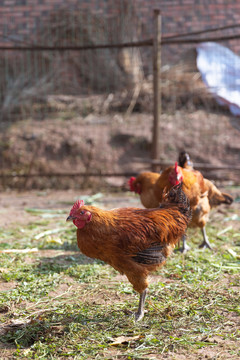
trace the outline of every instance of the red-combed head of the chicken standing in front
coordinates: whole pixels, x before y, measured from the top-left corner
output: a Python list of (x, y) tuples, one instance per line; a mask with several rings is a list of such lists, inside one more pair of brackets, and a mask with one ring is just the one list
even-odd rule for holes
[(91, 218), (92, 214), (87, 208), (84, 207), (84, 201), (77, 200), (73, 205), (66, 221), (72, 220), (78, 229), (82, 229), (89, 221), (91, 221)]

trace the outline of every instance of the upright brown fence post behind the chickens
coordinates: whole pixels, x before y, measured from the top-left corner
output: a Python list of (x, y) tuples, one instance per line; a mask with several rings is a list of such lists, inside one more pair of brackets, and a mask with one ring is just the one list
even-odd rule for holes
[(152, 171), (158, 171), (159, 161), (159, 125), (161, 114), (161, 12), (154, 10), (153, 38), (153, 128), (152, 128)]

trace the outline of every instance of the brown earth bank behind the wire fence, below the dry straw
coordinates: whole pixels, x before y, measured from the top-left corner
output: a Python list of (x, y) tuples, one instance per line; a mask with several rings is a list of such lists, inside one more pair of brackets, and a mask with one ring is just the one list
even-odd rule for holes
[[(97, 188), (111, 178), (89, 173), (136, 173), (150, 169), (152, 115), (133, 113), (57, 113), (5, 126), (0, 135), (0, 188)], [(183, 148), (194, 164), (226, 166), (203, 171), (205, 177), (239, 183), (239, 119), (199, 109), (165, 113), (160, 119), (160, 160), (174, 163)], [(13, 174), (8, 178), (3, 175)], [(33, 174), (81, 173), (83, 177), (31, 177)], [(18, 175), (26, 174), (21, 178)], [(117, 187), (120, 184), (116, 184)], [(95, 190), (96, 191), (96, 190)]]

